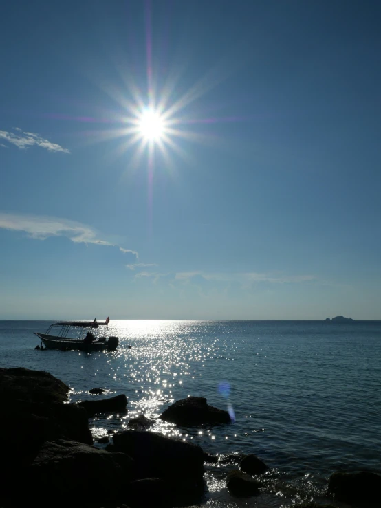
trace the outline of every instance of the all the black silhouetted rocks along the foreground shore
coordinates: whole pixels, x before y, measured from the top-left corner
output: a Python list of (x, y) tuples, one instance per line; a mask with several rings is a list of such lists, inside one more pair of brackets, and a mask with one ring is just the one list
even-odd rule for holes
[[(0, 419), (3, 474), (1, 507), (89, 506), (149, 508), (200, 503), (204, 496), (204, 463), (219, 457), (191, 443), (149, 432), (143, 415), (128, 429), (113, 434), (105, 450), (94, 446), (89, 417), (126, 408), (124, 394), (69, 403), (69, 386), (44, 371), (0, 368)], [(228, 412), (203, 397), (175, 402), (160, 416), (181, 426), (221, 425)], [(271, 467), (254, 454), (242, 456), (226, 485), (233, 496), (259, 496)], [(327, 497), (358, 506), (380, 505), (381, 476), (373, 472), (336, 472)], [(294, 508), (329, 508), (305, 503)], [(337, 505), (336, 505), (337, 506)]]

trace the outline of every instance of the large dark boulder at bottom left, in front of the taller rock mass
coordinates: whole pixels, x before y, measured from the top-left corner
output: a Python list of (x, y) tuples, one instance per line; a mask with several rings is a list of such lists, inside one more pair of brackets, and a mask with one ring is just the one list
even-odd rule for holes
[(37, 501), (52, 503), (52, 499), (59, 503), (72, 503), (74, 499), (76, 503), (108, 502), (120, 499), (133, 480), (133, 461), (125, 454), (58, 439), (44, 443), (25, 478), (30, 485), (27, 495), (31, 505)]

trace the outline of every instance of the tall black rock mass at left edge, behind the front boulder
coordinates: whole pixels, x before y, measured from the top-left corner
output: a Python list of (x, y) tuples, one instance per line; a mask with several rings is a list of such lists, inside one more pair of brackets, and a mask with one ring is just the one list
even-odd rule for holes
[(0, 434), (6, 436), (1, 456), (7, 464), (6, 477), (28, 465), (45, 441), (66, 438), (93, 443), (85, 410), (62, 404), (68, 392), (69, 386), (44, 371), (0, 369)]

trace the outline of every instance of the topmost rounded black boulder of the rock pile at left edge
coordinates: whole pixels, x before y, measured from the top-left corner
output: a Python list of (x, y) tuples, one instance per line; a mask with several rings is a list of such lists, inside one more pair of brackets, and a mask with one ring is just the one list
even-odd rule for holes
[(52, 404), (67, 400), (69, 386), (45, 371), (0, 368), (1, 404), (24, 400)]

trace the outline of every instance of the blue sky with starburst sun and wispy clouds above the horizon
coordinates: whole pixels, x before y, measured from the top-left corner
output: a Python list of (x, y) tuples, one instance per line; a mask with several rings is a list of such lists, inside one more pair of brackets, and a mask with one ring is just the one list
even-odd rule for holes
[(380, 319), (380, 23), (4, 4), (0, 319)]

